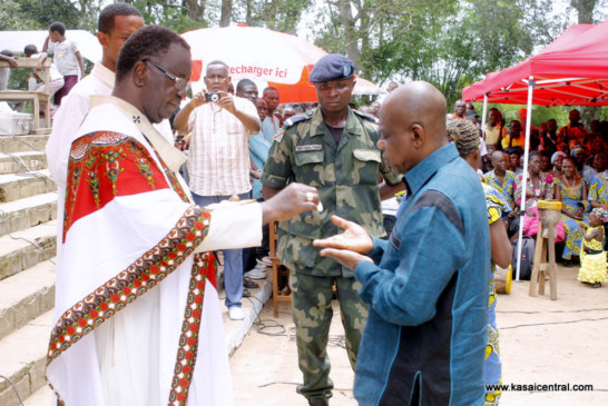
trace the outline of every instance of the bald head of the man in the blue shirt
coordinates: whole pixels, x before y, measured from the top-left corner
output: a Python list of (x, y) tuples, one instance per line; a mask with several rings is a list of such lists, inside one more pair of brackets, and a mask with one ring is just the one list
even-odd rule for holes
[(379, 148), (393, 170), (404, 174), (448, 143), (445, 112), (445, 98), (428, 82), (410, 82), (389, 95), (380, 110)]

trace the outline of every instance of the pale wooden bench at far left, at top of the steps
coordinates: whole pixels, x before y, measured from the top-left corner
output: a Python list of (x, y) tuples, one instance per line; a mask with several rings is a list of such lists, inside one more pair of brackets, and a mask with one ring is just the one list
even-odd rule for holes
[[(38, 59), (19, 58), (16, 59), (19, 65), (16, 69), (27, 68), (35, 69), (38, 65)], [(33, 105), (33, 129), (36, 133), (47, 133), (50, 131), (50, 97), (49, 97), (49, 80), (50, 72), (49, 67), (51, 61), (47, 58), (42, 66), (43, 72), (41, 77), (45, 78), (43, 91), (22, 91), (22, 90), (2, 90), (0, 91), (0, 101), (31, 101)], [(9, 68), (9, 62), (1, 60), (0, 68)], [(45, 121), (46, 127), (40, 126), (40, 102), (46, 102), (45, 107)]]

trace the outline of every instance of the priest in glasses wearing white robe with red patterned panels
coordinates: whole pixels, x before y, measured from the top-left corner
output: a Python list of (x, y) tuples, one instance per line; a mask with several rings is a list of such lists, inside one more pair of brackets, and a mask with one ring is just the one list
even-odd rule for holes
[(120, 51), (70, 150), (47, 378), (65, 405), (233, 405), (210, 250), (258, 245), (262, 224), (316, 209), (293, 184), (263, 204), (202, 208), (153, 127), (185, 97), (188, 44), (149, 26)]

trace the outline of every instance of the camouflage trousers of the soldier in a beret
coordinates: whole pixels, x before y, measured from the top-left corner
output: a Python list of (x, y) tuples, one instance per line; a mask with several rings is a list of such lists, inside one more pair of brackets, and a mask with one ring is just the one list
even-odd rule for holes
[(296, 329), (300, 370), (304, 384), (297, 393), (308, 399), (332, 396), (327, 341), (332, 323), (332, 286), (336, 286), (340, 315), (346, 338), (346, 353), (355, 368), (356, 354), (367, 319), (367, 305), (359, 297), (361, 284), (355, 278), (323, 277), (290, 271), (292, 317)]

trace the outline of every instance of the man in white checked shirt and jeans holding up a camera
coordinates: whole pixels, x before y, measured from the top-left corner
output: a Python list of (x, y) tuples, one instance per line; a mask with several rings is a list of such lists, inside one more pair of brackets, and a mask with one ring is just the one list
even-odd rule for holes
[[(206, 90), (193, 97), (174, 119), (179, 132), (192, 132), (188, 154), (189, 187), (194, 201), (208, 206), (236, 195), (249, 198), (249, 135), (262, 126), (249, 100), (228, 92), (231, 77), (222, 61), (212, 61), (205, 73)], [(224, 250), (226, 307), (233, 320), (244, 318), (243, 254)]]

